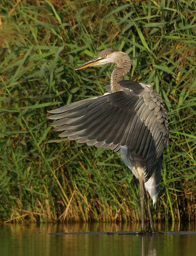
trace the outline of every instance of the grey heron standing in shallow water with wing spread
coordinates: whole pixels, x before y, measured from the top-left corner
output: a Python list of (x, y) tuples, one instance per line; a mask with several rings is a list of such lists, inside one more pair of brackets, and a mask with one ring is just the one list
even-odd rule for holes
[(121, 155), (125, 165), (139, 180), (141, 231), (145, 233), (144, 199), (150, 221), (150, 233), (155, 233), (149, 195), (155, 206), (158, 198), (163, 149), (168, 143), (169, 130), (166, 110), (161, 96), (151, 85), (123, 80), (131, 69), (128, 54), (105, 49), (96, 58), (75, 70), (88, 66), (116, 64), (110, 80), (110, 92), (85, 98), (49, 111), (58, 119), (60, 137), (79, 143), (110, 148)]

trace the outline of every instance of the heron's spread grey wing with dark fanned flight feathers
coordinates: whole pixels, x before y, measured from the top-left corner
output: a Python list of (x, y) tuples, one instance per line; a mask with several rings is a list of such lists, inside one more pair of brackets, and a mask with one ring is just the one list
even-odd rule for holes
[(150, 177), (169, 137), (162, 99), (151, 86), (129, 80), (119, 84), (120, 91), (50, 111), (55, 115), (49, 118), (58, 119), (51, 125), (62, 131), (60, 137), (79, 143), (118, 153), (127, 145)]

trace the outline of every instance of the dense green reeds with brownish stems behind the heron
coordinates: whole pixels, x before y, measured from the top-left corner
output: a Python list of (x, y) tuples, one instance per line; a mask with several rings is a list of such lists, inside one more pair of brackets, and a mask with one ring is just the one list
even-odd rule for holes
[(139, 184), (121, 158), (58, 138), (46, 119), (104, 93), (112, 65), (74, 68), (108, 47), (130, 55), (126, 78), (151, 84), (168, 112), (153, 218), (195, 220), (196, 2), (2, 0), (0, 9), (0, 221), (140, 220)]

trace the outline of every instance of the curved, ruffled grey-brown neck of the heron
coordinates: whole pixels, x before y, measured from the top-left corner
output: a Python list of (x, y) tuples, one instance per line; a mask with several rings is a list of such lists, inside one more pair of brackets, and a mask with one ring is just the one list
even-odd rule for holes
[(124, 76), (127, 75), (130, 69), (131, 69), (131, 60), (129, 57), (127, 58), (126, 61), (116, 64), (116, 66), (112, 71), (111, 79), (110, 79), (111, 92), (116, 92), (121, 90), (121, 86), (118, 84), (118, 82), (124, 79)]

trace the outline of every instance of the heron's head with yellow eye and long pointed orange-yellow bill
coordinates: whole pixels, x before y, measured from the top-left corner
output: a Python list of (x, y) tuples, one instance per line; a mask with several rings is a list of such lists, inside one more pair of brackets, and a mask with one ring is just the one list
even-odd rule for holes
[(105, 65), (106, 63), (118, 64), (123, 59), (123, 57), (130, 59), (126, 53), (114, 50), (112, 48), (107, 48), (102, 50), (96, 58), (93, 58), (90, 61), (80, 65), (75, 70), (87, 68), (88, 66)]

